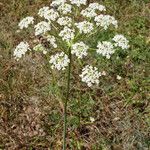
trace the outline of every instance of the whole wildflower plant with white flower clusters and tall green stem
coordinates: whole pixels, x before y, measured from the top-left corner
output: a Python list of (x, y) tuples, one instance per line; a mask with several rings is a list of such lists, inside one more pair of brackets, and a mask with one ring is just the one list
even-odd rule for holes
[[(104, 14), (103, 14), (104, 13)], [(99, 3), (87, 4), (87, 0), (53, 0), (49, 6), (40, 8), (37, 16), (41, 22), (34, 17), (26, 17), (19, 23), (20, 30), (33, 25), (35, 39), (39, 36), (46, 39), (50, 48), (47, 49), (42, 42), (37, 45), (30, 45), (22, 41), (14, 50), (14, 58), (18, 61), (26, 55), (28, 51), (41, 51), (47, 55), (51, 69), (58, 73), (67, 71), (67, 92), (64, 102), (64, 133), (63, 149), (66, 149), (66, 128), (67, 128), (67, 102), (70, 94), (71, 68), (74, 62), (80, 62), (79, 78), (81, 82), (89, 88), (99, 86), (100, 77), (103, 72), (101, 68), (94, 66), (95, 57), (90, 55), (94, 52), (97, 56), (101, 55), (105, 59), (110, 59), (116, 50), (129, 48), (129, 41), (122, 35), (116, 34), (111, 39), (96, 41), (96, 45), (89, 39), (94, 34), (106, 31), (109, 28), (118, 28), (115, 17), (106, 14), (106, 7)], [(109, 32), (109, 31), (108, 31)], [(95, 42), (94, 42), (95, 43)], [(65, 45), (65, 46), (64, 46)], [(86, 58), (86, 59), (85, 59)], [(89, 58), (89, 62), (85, 62)], [(92, 63), (93, 60), (93, 63)], [(83, 65), (86, 64), (85, 66)], [(80, 68), (80, 66), (82, 66)], [(82, 84), (82, 83), (81, 83)]]

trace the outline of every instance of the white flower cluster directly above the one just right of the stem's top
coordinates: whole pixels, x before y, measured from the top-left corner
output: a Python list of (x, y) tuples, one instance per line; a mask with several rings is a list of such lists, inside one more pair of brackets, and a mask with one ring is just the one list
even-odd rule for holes
[(80, 33), (90, 33), (94, 29), (94, 25), (88, 21), (75, 23), (75, 25), (79, 29)]

